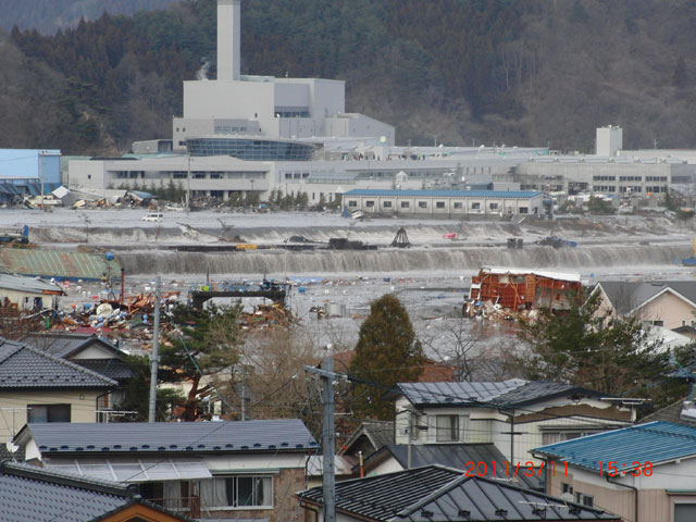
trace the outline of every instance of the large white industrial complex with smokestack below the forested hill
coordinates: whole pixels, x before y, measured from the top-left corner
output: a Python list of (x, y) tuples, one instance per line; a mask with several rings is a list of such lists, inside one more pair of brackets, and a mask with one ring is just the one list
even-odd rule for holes
[[(134, 154), (71, 161), (71, 188), (183, 185), (192, 198), (304, 192), (312, 203), (353, 189), (495, 188), (609, 195), (662, 194), (693, 181), (696, 165), (630, 156), (622, 129), (597, 129), (601, 156), (545, 148), (397, 147), (394, 127), (345, 112), (345, 83), (241, 75), (240, 0), (217, 0), (217, 79), (184, 83), (172, 140)], [(696, 158), (696, 154), (694, 154)]]

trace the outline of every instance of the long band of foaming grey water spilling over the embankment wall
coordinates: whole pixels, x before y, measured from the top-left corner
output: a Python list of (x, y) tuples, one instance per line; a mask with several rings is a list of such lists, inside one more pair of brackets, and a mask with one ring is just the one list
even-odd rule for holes
[(596, 245), (554, 249), (418, 248), (381, 250), (284, 250), (231, 253), (122, 252), (119, 260), (137, 274), (316, 274), (474, 271), (482, 265), (549, 270), (606, 270), (674, 265), (688, 256), (684, 246)]

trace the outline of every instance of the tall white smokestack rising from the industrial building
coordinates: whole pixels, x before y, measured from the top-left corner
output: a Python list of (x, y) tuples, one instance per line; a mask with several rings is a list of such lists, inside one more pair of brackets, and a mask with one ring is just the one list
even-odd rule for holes
[(217, 0), (217, 79), (239, 79), (241, 0)]

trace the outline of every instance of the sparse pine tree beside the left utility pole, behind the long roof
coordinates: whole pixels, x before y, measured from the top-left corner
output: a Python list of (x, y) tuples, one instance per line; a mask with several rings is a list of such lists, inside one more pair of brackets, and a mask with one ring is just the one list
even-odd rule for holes
[(183, 405), (185, 421), (195, 421), (200, 401), (214, 390), (200, 385), (203, 376), (232, 371), (239, 361), (241, 306), (206, 310), (179, 304), (172, 311), (177, 333), (167, 334), (160, 349), (161, 377), (166, 382), (188, 382), (191, 389)]

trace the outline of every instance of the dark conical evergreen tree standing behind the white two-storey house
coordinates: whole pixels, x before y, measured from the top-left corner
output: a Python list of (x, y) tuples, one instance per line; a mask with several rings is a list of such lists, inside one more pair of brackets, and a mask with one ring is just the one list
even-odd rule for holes
[(382, 395), (397, 383), (418, 380), (423, 361), (423, 349), (399, 299), (386, 294), (373, 301), (350, 362), (350, 374), (371, 384), (353, 386), (351, 409), (360, 418), (390, 420), (394, 408)]

